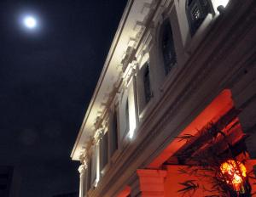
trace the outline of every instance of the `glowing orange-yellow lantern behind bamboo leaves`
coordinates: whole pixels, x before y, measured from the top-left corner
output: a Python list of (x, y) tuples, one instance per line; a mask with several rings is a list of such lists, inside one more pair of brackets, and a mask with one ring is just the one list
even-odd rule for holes
[(244, 193), (243, 180), (247, 177), (246, 167), (239, 161), (227, 160), (220, 166), (226, 183), (232, 184), (236, 192)]

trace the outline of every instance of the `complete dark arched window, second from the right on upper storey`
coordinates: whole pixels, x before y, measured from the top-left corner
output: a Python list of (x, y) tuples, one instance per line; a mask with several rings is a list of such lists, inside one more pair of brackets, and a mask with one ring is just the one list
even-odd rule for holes
[(176, 52), (172, 37), (172, 27), (169, 21), (166, 21), (163, 26), (162, 53), (164, 58), (165, 73), (167, 75), (172, 67), (177, 64)]

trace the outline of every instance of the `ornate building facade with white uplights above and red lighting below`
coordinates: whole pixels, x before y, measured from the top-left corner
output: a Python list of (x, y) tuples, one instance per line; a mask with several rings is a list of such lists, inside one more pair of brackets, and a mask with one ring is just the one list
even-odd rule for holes
[(255, 21), (253, 0), (129, 0), (73, 147), (79, 196), (253, 193)]

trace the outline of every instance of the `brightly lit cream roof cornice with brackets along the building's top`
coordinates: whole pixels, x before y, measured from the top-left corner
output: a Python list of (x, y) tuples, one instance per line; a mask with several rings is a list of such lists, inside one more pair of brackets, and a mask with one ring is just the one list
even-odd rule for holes
[[(120, 21), (120, 24), (119, 24), (118, 31), (116, 32), (116, 35), (113, 39), (112, 46), (111, 46), (110, 51), (108, 53), (108, 57), (106, 59), (104, 67), (102, 69), (102, 74), (101, 74), (100, 79), (99, 79), (99, 81), (96, 85), (96, 90), (95, 90), (95, 92), (92, 96), (92, 99), (90, 101), (90, 105), (89, 105), (88, 110), (86, 111), (86, 114), (84, 116), (84, 121), (83, 121), (82, 127), (80, 128), (79, 136), (76, 140), (76, 143), (74, 144), (73, 152), (71, 154), (71, 157), (73, 158), (73, 160), (77, 159), (77, 156), (78, 156), (77, 153), (78, 153), (79, 149), (81, 148), (81, 144), (84, 143), (84, 141), (86, 141), (85, 138), (88, 138), (89, 133), (90, 133), (90, 136), (93, 135), (93, 133), (91, 133), (91, 129), (93, 129), (93, 130), (96, 129), (96, 128), (92, 128), (92, 127), (87, 126), (88, 125), (87, 124), (88, 120), (90, 119), (90, 122), (91, 122), (92, 117), (94, 117), (94, 115), (96, 114), (95, 111), (94, 111), (96, 109), (94, 109), (94, 107), (98, 106), (97, 103), (99, 102), (99, 100), (102, 100), (101, 109), (97, 110), (97, 113), (98, 113), (98, 116), (100, 116), (101, 119), (103, 119), (102, 116), (104, 116), (104, 114), (105, 114), (106, 104), (109, 104), (109, 102), (108, 102), (109, 100), (113, 101), (113, 99), (111, 98), (112, 95), (107, 95), (105, 98), (102, 98), (102, 96), (99, 96), (99, 94), (102, 94), (102, 93), (105, 93), (106, 91), (108, 91), (108, 89), (107, 90), (104, 89), (104, 91), (102, 92), (101, 88), (104, 87), (104, 84), (107, 84), (106, 82), (103, 83), (103, 81), (106, 78), (109, 78), (110, 77), (109, 75), (113, 75), (111, 77), (111, 80), (112, 80), (111, 84), (112, 83), (114, 84), (114, 88), (119, 89), (120, 85), (123, 84), (123, 81), (122, 81), (123, 77), (120, 78), (120, 75), (122, 76), (122, 72), (124, 72), (125, 69), (130, 64), (132, 64), (134, 61), (136, 61), (136, 59), (134, 59), (134, 57), (135, 57), (134, 54), (137, 51), (137, 46), (139, 46), (141, 44), (141, 37), (143, 37), (145, 29), (148, 26), (148, 24), (145, 23), (144, 21), (148, 21), (148, 17), (150, 18), (152, 14), (154, 15), (154, 10), (158, 7), (160, 2), (161, 1), (158, 1), (158, 0), (142, 0), (142, 1), (141, 0), (140, 1), (130, 0), (127, 3), (127, 6), (125, 8), (125, 12), (124, 12), (124, 14), (122, 16), (122, 19)], [(137, 6), (135, 6), (135, 4), (139, 5), (139, 6), (137, 7)], [(141, 7), (142, 7), (142, 9), (139, 10)], [(132, 14), (133, 14), (133, 12), (137, 12), (139, 18), (143, 19), (143, 21), (137, 21), (137, 19), (135, 19), (133, 17), (133, 15), (131, 15), (131, 11), (132, 11)], [(129, 28), (131, 28), (131, 26), (129, 25), (129, 23), (131, 21), (132, 21), (132, 23), (133, 22), (136, 23), (136, 25), (134, 26), (135, 29), (133, 31), (137, 32), (137, 34), (133, 35), (133, 36), (129, 35), (130, 39), (128, 39), (127, 48), (125, 50), (125, 54), (123, 55), (124, 57), (118, 63), (119, 65), (122, 66), (122, 68), (123, 68), (123, 70), (122, 70), (122, 69), (120, 69), (120, 66), (117, 65), (117, 63), (113, 63), (114, 62), (113, 61), (113, 56), (116, 55), (115, 53), (118, 52), (117, 46), (120, 43), (121, 43), (122, 46), (125, 45), (125, 43), (123, 43), (121, 37), (123, 37), (126, 34), (126, 31), (124, 31), (124, 29), (127, 28), (127, 26), (125, 26), (125, 25), (128, 25)], [(127, 37), (127, 35), (125, 37)], [(115, 67), (115, 69), (117, 71), (114, 72), (114, 74), (113, 73), (112, 74), (108, 73), (108, 72), (110, 72), (110, 70), (113, 71), (113, 67)], [(117, 81), (116, 81), (116, 79), (117, 79)], [(108, 83), (108, 84), (109, 84), (109, 87), (111, 88), (112, 85), (110, 83)], [(114, 91), (113, 91), (113, 93), (114, 93)], [(108, 94), (108, 93), (105, 93), (105, 95), (106, 94)], [(113, 97), (115, 97), (115, 95)], [(106, 99), (107, 99), (107, 103), (104, 105), (103, 100), (106, 100)], [(91, 115), (91, 114), (93, 114), (91, 111), (94, 111), (94, 115)], [(89, 125), (90, 125), (90, 123), (89, 123)], [(83, 138), (83, 142), (82, 142), (81, 138)]]

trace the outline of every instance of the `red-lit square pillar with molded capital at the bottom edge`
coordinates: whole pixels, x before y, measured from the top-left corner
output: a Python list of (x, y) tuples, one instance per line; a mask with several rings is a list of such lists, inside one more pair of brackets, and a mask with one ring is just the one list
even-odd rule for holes
[(162, 170), (137, 170), (139, 177), (140, 196), (164, 197), (166, 171)]

